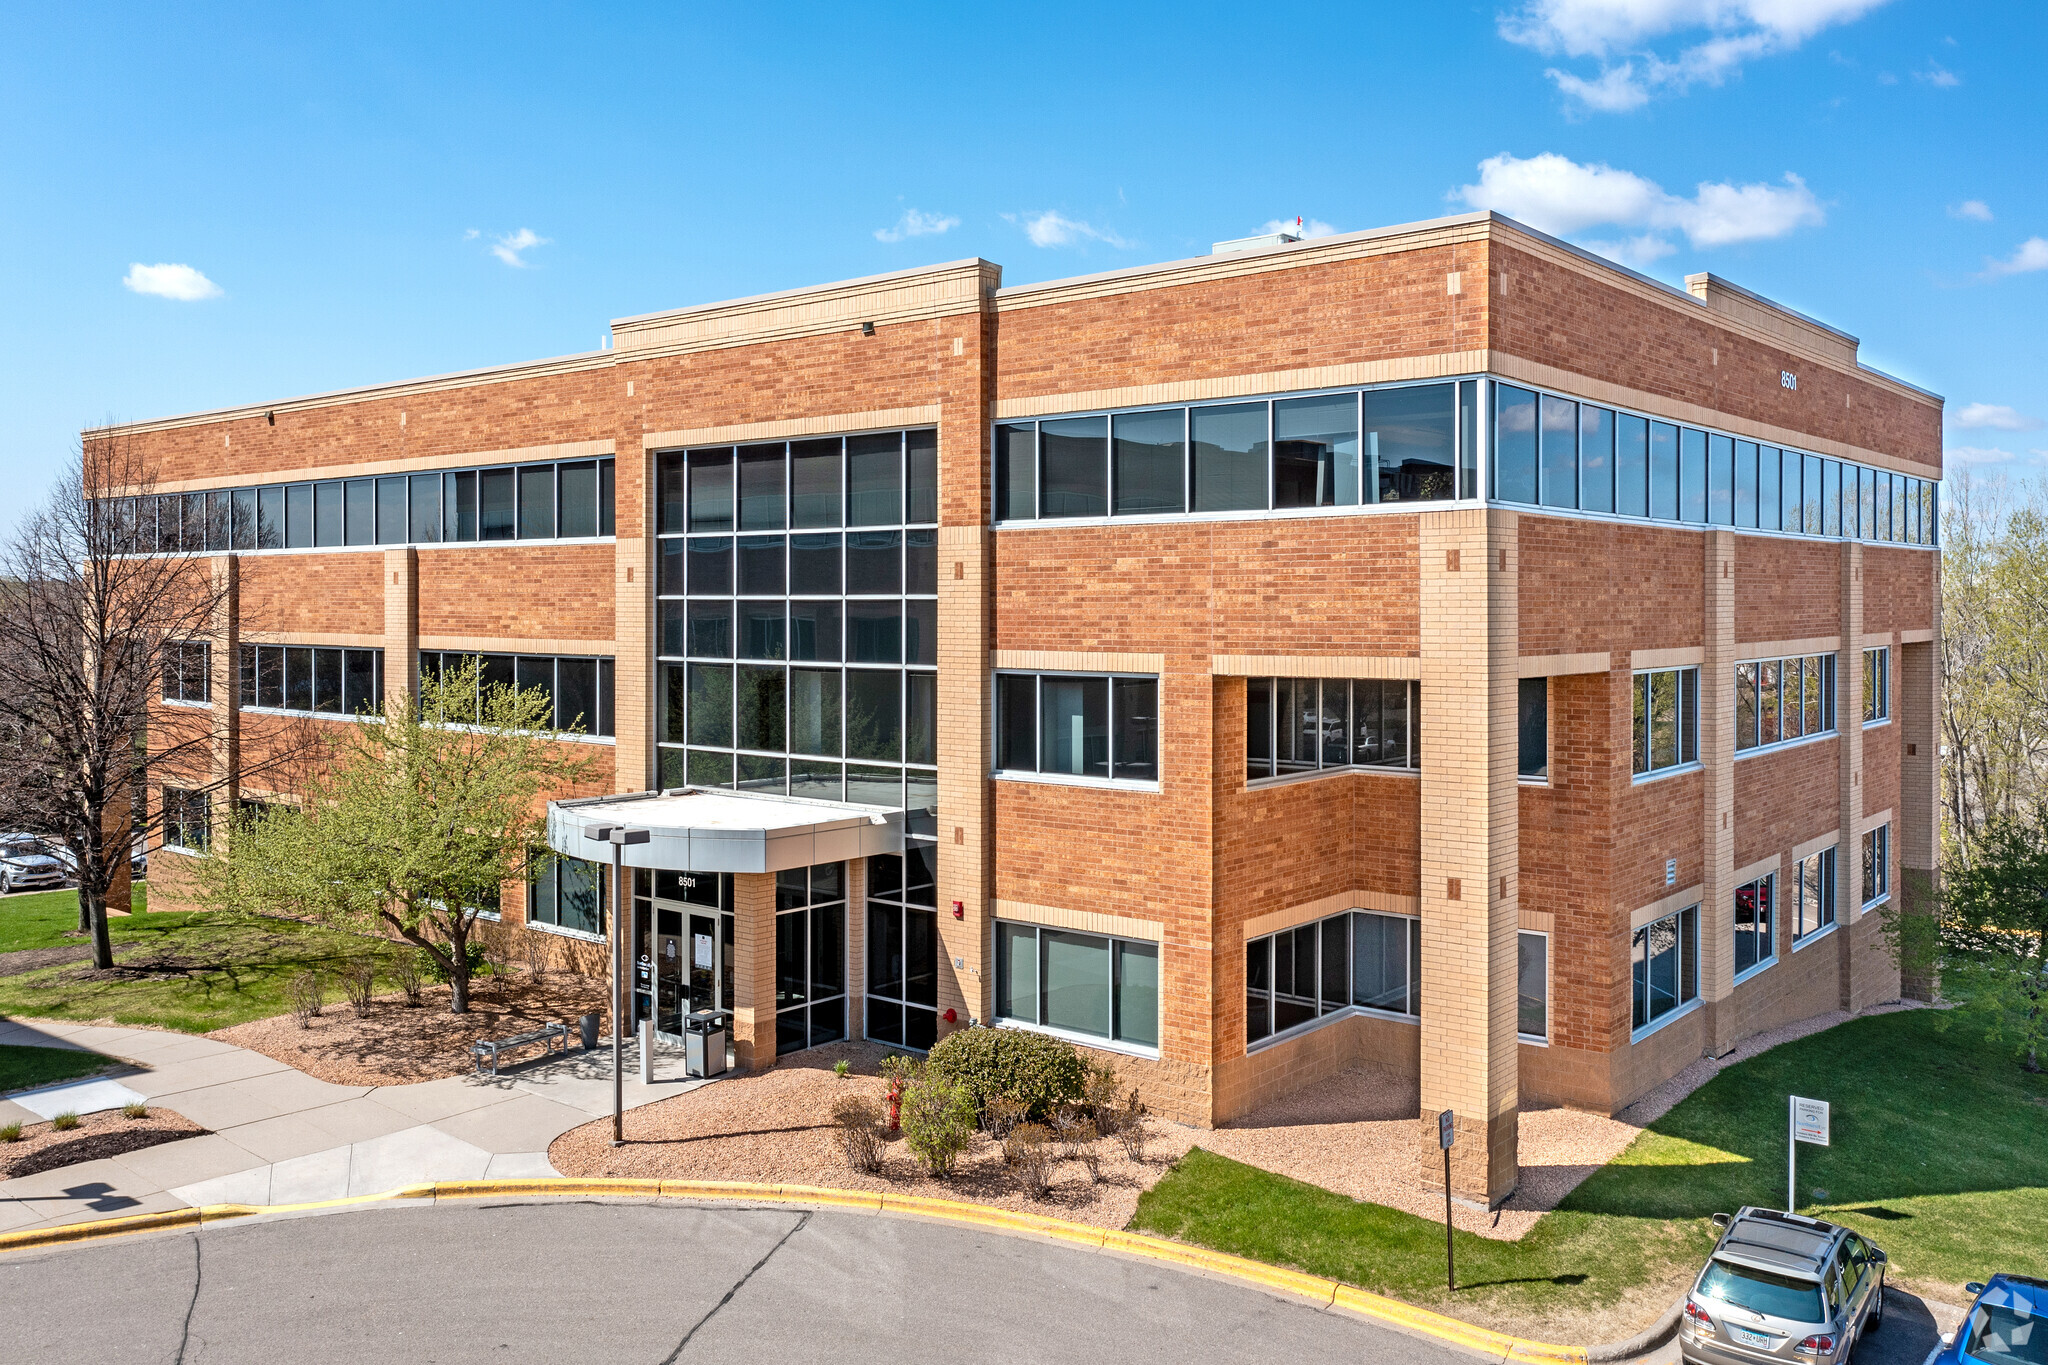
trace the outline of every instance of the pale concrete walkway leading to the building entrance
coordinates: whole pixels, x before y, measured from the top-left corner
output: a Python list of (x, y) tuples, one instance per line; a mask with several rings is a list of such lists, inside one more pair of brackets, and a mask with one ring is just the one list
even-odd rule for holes
[[(557, 1175), (547, 1144), (612, 1111), (610, 1046), (506, 1064), (498, 1076), (420, 1085), (330, 1085), (233, 1044), (160, 1029), (0, 1019), (0, 1046), (86, 1048), (131, 1066), (0, 1099), (0, 1124), (74, 1109), (164, 1105), (211, 1132), (0, 1181), (0, 1232), (156, 1214), (205, 1203), (305, 1203), (418, 1181)], [(629, 1109), (684, 1095), (680, 1050), (639, 1083), (627, 1048)]]

